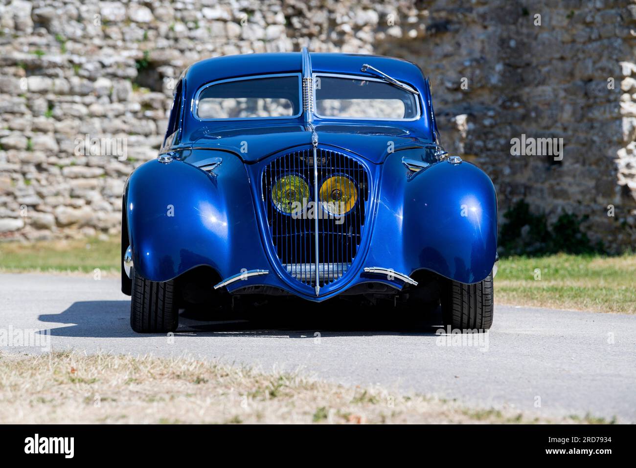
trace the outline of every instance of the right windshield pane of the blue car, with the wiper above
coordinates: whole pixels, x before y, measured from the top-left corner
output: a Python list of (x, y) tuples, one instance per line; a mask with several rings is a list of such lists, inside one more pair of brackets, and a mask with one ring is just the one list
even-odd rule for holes
[(368, 78), (317, 76), (315, 109), (319, 117), (415, 119), (417, 96), (410, 91)]

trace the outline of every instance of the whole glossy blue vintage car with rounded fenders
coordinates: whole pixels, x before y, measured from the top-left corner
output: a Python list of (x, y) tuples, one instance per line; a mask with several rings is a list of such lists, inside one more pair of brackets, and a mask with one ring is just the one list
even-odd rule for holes
[(193, 64), (158, 159), (123, 196), (121, 289), (137, 332), (175, 330), (193, 304), (294, 296), (441, 303), (446, 325), (486, 330), (497, 259), (492, 182), (442, 150), (428, 80), (389, 57)]

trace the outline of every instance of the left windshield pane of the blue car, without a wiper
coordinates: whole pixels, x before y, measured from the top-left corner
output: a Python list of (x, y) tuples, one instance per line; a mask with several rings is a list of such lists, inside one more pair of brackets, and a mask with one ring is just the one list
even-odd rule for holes
[(300, 75), (212, 83), (199, 93), (198, 118), (284, 118), (301, 114)]

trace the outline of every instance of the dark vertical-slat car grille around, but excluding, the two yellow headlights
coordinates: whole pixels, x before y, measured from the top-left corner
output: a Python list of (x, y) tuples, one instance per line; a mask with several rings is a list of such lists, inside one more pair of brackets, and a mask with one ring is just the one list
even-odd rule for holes
[[(359, 250), (368, 211), (369, 176), (360, 162), (340, 152), (317, 148), (316, 160), (319, 188), (333, 176), (344, 176), (356, 187), (356, 202), (342, 217), (326, 216), (322, 207), (314, 206), (314, 213), (322, 213), (316, 229), (315, 216), (293, 216), (281, 211), (273, 202), (272, 189), (284, 176), (298, 176), (304, 180), (309, 187), (309, 201), (314, 201), (312, 148), (273, 159), (263, 170), (261, 187), (272, 245), (282, 268), (301, 283), (322, 288), (347, 272)], [(308, 213), (312, 213), (311, 209)]]

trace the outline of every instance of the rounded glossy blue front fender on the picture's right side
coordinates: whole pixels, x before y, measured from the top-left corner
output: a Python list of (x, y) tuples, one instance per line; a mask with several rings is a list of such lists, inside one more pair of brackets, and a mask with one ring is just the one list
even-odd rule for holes
[(446, 160), (413, 173), (387, 158), (366, 264), (411, 274), (434, 271), (461, 283), (484, 280), (497, 257), (497, 196), (469, 162)]

